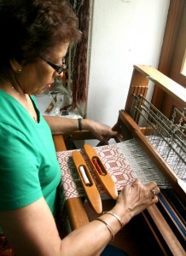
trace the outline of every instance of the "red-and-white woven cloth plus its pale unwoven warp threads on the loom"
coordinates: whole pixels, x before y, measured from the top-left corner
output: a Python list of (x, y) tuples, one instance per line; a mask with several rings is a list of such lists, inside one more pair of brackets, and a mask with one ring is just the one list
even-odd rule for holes
[[(106, 170), (113, 178), (118, 191), (126, 184), (133, 183), (137, 177), (141, 178), (142, 183), (155, 181), (160, 188), (170, 187), (166, 177), (162, 175), (136, 140), (132, 139), (123, 143), (95, 147), (95, 150)], [(73, 163), (73, 151), (69, 150), (56, 153), (62, 172), (61, 187), (64, 189), (66, 199), (85, 195), (80, 179), (78, 178), (78, 172)], [(96, 183), (96, 187), (100, 194), (103, 195), (105, 192), (102, 185), (96, 179), (96, 175), (90, 166), (84, 149), (77, 149), (77, 151), (83, 155), (90, 174)]]

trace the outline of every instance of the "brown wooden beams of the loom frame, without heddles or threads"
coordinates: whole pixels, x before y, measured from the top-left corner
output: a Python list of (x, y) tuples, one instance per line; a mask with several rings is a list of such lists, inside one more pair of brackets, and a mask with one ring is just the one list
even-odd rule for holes
[[(137, 137), (138, 142), (146, 151), (148, 151), (148, 154), (150, 154), (155, 164), (160, 168), (160, 171), (165, 174), (172, 187), (176, 189), (178, 195), (185, 202), (185, 194), (183, 189), (180, 189), (180, 186), (177, 184), (177, 177), (175, 176), (174, 172), (172, 172), (165, 160), (162, 160), (160, 154), (157, 154), (154, 147), (144, 136), (150, 134), (151, 129), (140, 127), (136, 122), (138, 121), (138, 118), (134, 120), (130, 115), (132, 95), (135, 93), (137, 96), (142, 95), (146, 97), (149, 80), (153, 81), (157, 86), (160, 87), (160, 89), (166, 91), (167, 94), (176, 98), (177, 101), (183, 105), (183, 108), (186, 108), (186, 90), (180, 84), (177, 84), (176, 82), (167, 78), (154, 67), (135, 65), (131, 77), (131, 84), (125, 104), (125, 110), (119, 111), (118, 121), (113, 126), (113, 129), (119, 130), (119, 137), (115, 137), (114, 139), (116, 143), (119, 143), (123, 140), (130, 139), (131, 137)], [(133, 84), (140, 84), (140, 86), (134, 86)], [(73, 132), (72, 134), (55, 135), (53, 138), (56, 152), (67, 150), (72, 145), (73, 141), (94, 139), (89, 131), (78, 131)], [(67, 200), (67, 212), (72, 230), (77, 229), (81, 225), (89, 222), (89, 218), (84, 210), (84, 205), (80, 198), (72, 198)], [(168, 255), (167, 253), (170, 252), (172, 255), (185, 255), (183, 246), (181, 245), (180, 241), (178, 241), (177, 236), (171, 230), (166, 218), (162, 215), (156, 205), (148, 207), (146, 211), (142, 212), (142, 216), (146, 220), (149, 229), (152, 231), (152, 234), (165, 255)], [(155, 229), (154, 225), (156, 227)], [(159, 230), (158, 233), (156, 232), (156, 229)], [(162, 240), (164, 240), (164, 242), (162, 242)]]

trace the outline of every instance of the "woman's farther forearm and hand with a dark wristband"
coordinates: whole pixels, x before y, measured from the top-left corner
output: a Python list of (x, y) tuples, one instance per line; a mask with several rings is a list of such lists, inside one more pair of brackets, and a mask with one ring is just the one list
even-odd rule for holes
[[(66, 119), (55, 116), (44, 116), (53, 134), (64, 134), (78, 131), (78, 119)], [(91, 131), (102, 142), (107, 143), (111, 137), (117, 136), (110, 126), (103, 125), (91, 119), (82, 119), (82, 130)]]

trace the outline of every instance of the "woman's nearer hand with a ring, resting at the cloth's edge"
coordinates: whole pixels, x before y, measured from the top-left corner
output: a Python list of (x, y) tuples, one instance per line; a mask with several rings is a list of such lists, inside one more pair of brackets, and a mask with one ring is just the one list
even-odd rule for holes
[[(142, 184), (139, 178), (131, 185), (126, 185), (119, 193), (114, 212), (120, 216), (124, 224), (132, 217), (158, 202), (160, 189), (154, 182)], [(113, 212), (113, 210), (112, 210)]]

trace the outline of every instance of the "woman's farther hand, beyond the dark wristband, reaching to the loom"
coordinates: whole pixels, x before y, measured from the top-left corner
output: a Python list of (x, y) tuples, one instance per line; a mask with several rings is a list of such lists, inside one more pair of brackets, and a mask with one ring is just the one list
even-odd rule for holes
[(108, 140), (111, 137), (115, 137), (118, 134), (118, 132), (113, 131), (110, 126), (103, 125), (91, 119), (83, 119), (82, 124), (84, 130), (91, 131), (96, 139), (105, 144), (108, 144)]

